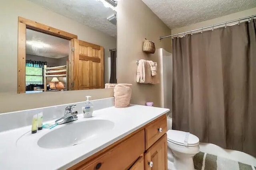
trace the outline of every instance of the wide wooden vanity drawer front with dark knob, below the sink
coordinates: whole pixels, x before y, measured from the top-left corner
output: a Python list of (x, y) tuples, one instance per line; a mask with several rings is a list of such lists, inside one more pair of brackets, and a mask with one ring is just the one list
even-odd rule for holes
[(132, 135), (122, 143), (83, 164), (78, 170), (124, 170), (136, 160), (145, 149), (144, 130)]

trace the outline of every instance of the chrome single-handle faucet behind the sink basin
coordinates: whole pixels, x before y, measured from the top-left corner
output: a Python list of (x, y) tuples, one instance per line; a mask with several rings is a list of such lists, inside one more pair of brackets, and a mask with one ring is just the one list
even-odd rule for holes
[(61, 117), (60, 119), (56, 120), (55, 123), (57, 125), (61, 125), (63, 123), (68, 123), (70, 121), (75, 121), (78, 119), (77, 117), (77, 114), (78, 112), (77, 111), (74, 111), (73, 112), (73, 108), (76, 107), (76, 105), (70, 105), (70, 106), (67, 106), (65, 108), (65, 113), (64, 113), (64, 116)]

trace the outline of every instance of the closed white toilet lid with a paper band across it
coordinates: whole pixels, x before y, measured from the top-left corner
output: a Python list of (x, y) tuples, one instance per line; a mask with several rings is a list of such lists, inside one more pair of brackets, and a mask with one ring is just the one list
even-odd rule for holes
[[(175, 143), (177, 145), (184, 146), (185, 137), (187, 132), (184, 131), (176, 131), (176, 130), (168, 130), (167, 131), (167, 139), (169, 142)], [(199, 144), (199, 139), (196, 135), (189, 134), (188, 135), (188, 147), (197, 146)]]

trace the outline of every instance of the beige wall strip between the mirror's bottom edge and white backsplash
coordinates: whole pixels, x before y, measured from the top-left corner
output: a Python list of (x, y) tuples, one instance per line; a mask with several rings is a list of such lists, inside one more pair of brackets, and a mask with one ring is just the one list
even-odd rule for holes
[(45, 92), (36, 94), (0, 94), (0, 113), (48, 107), (113, 97), (113, 89), (76, 90), (65, 92)]

